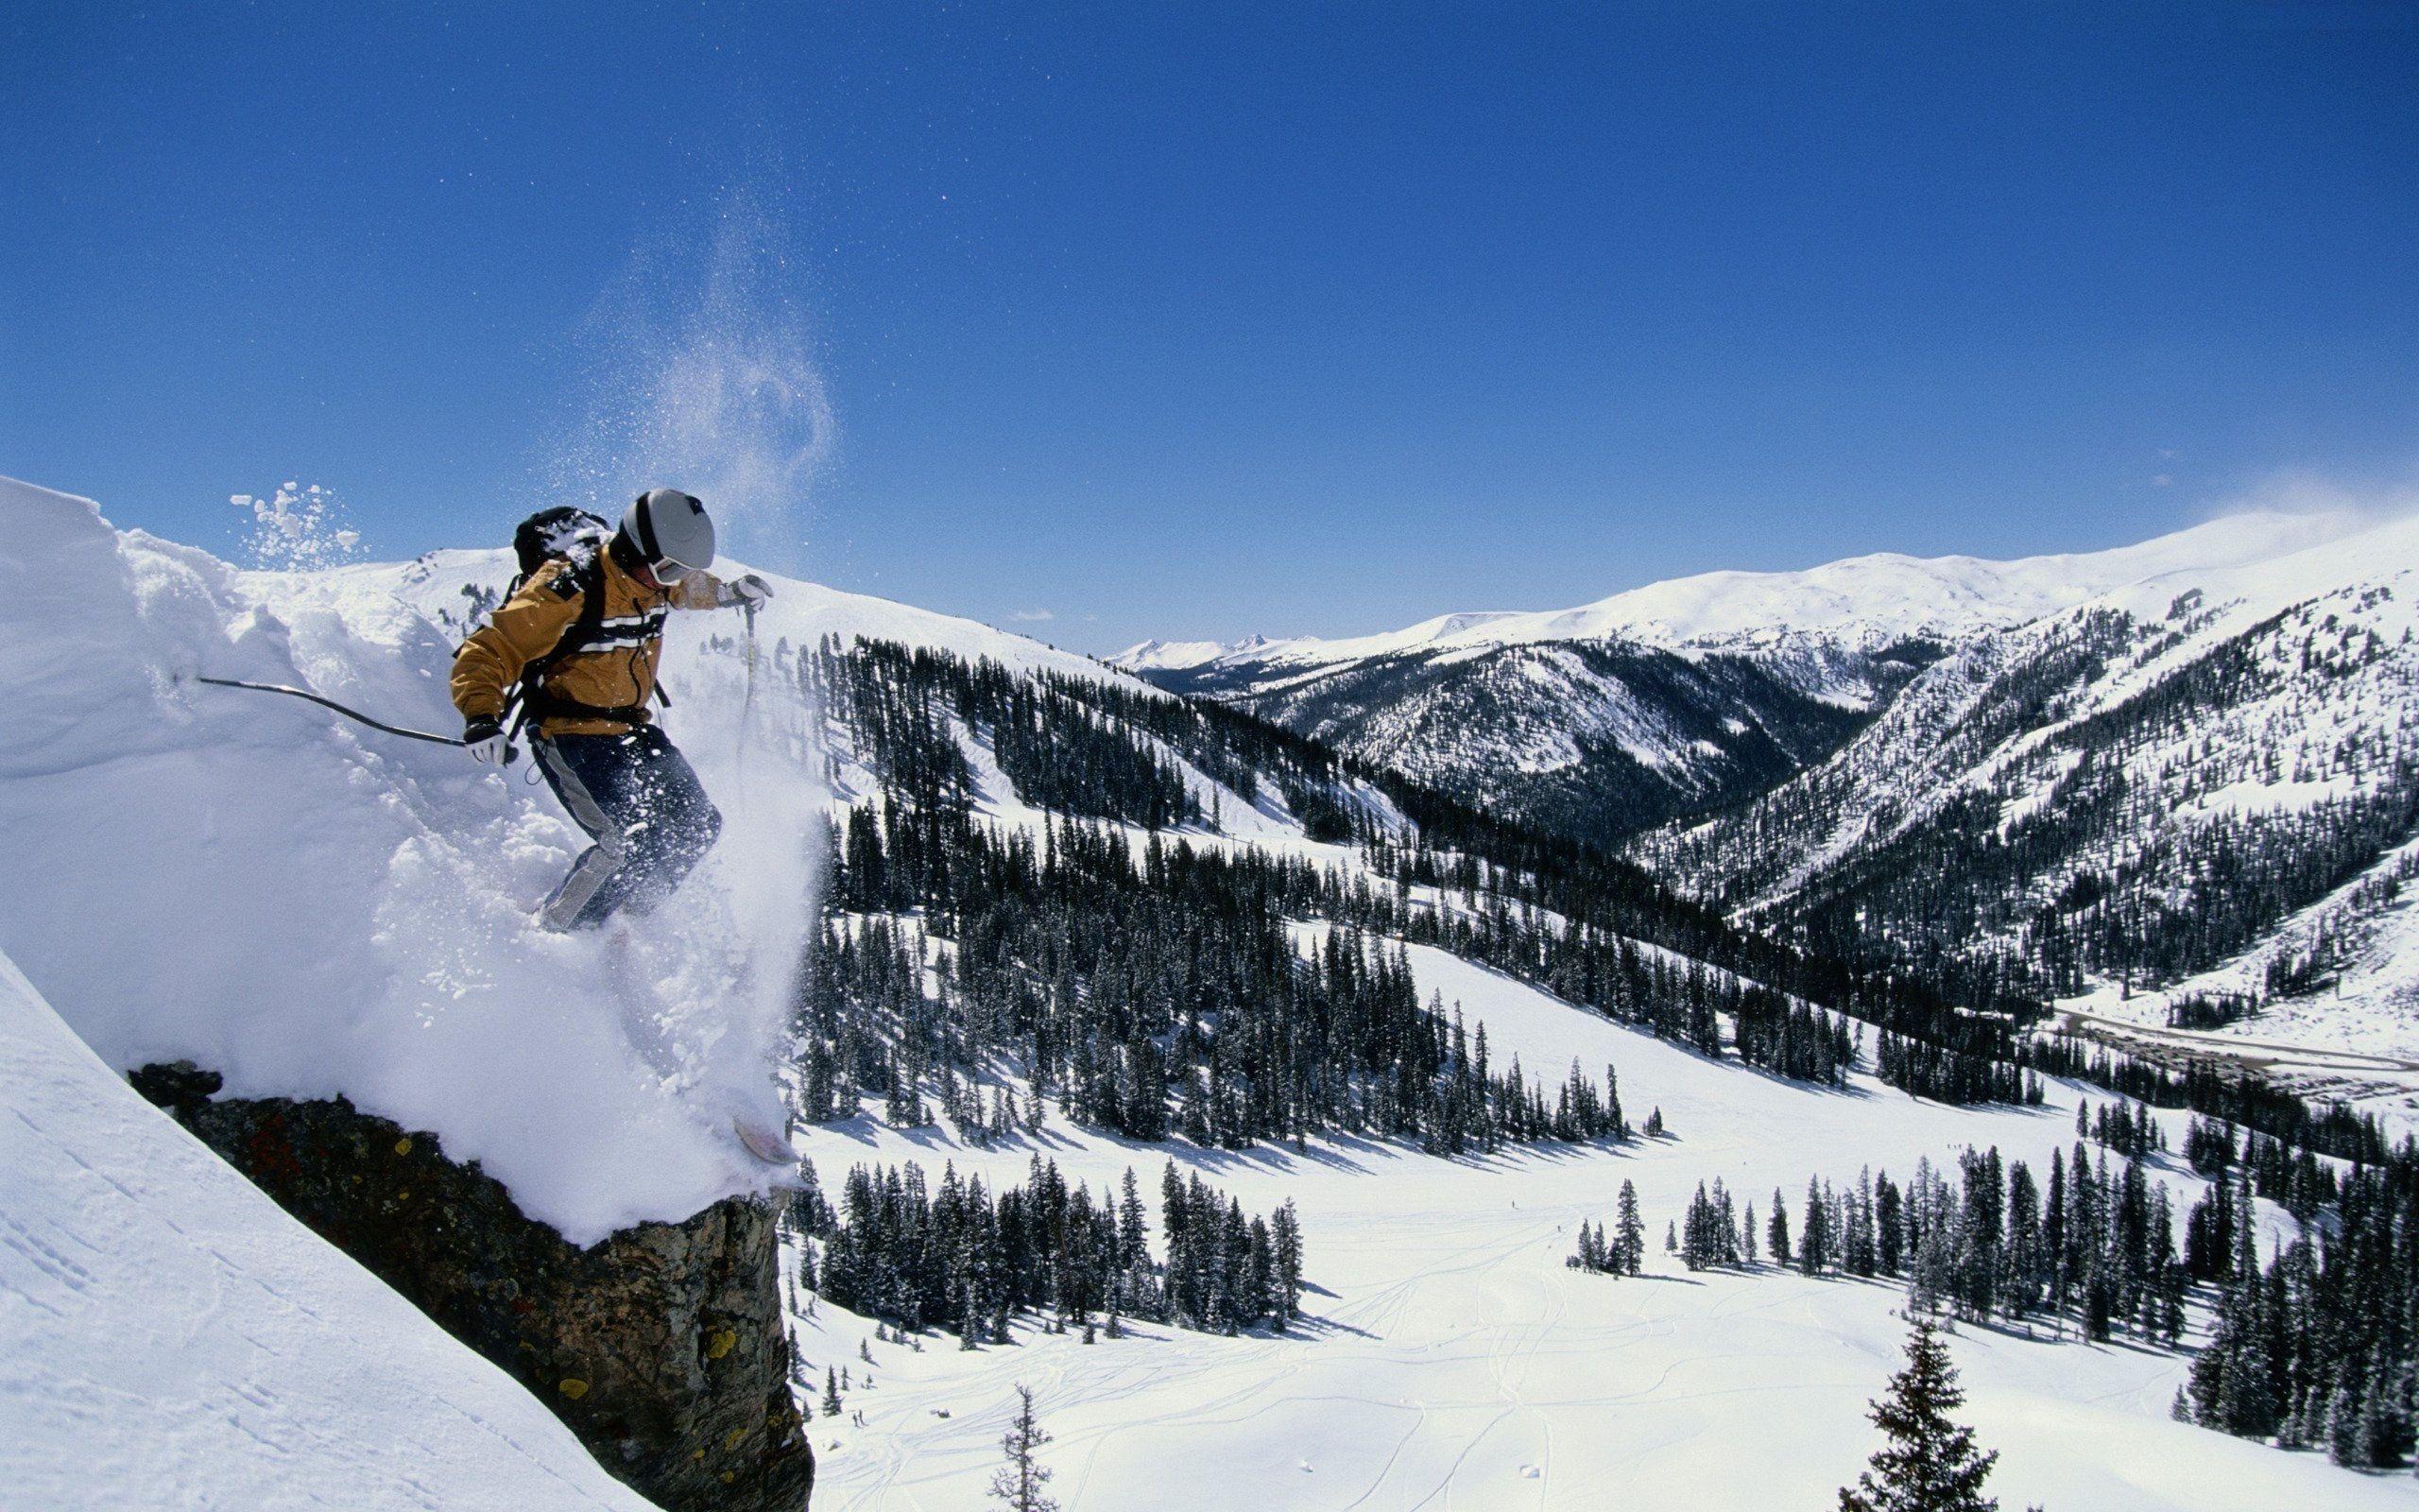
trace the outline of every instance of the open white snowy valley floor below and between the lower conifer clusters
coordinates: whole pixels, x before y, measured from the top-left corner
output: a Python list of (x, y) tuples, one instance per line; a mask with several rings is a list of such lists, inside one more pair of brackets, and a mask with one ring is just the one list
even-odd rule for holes
[[(1918, 1156), (1942, 1164), (1964, 1144), (2042, 1168), (2073, 1142), (2073, 1086), (2054, 1086), (2046, 1110), (1981, 1113), (1865, 1077), (1846, 1093), (1809, 1091), (1449, 956), (1413, 958), (1422, 992), (1439, 987), (1488, 1023), (1497, 1060), (1519, 1052), (1548, 1084), (1572, 1055), (1592, 1074), (1611, 1060), (1630, 1120), (1659, 1106), (1676, 1139), (1442, 1161), (1369, 1142), (1314, 1142), (1299, 1156), (1139, 1147), (1064, 1123), (992, 1149), (868, 1118), (815, 1130), (808, 1152), (832, 1193), (859, 1161), (912, 1159), (934, 1178), (956, 1161), (1016, 1183), (1035, 1152), (1096, 1190), (1135, 1166), (1156, 1193), (1173, 1154), (1248, 1212), (1292, 1195), (1314, 1282), (1294, 1338), (1147, 1323), (1096, 1345), (1033, 1326), (1014, 1347), (975, 1352), (939, 1333), (922, 1352), (871, 1343), (876, 1386), (813, 1422), (818, 1512), (980, 1505), (1018, 1381), (1057, 1437), (1043, 1461), (1069, 1510), (1829, 1507), (1877, 1444), (1863, 1413), (1896, 1367), (1904, 1292), (1771, 1268), (1691, 1275), (1662, 1253), (1664, 1222), (1715, 1176), (1759, 1212), (1778, 1185), (1795, 1217), (1807, 1176), (1853, 1183), (1870, 1164), (1904, 1181)], [(2180, 1142), (2182, 1118), (2167, 1132)], [(2180, 1161), (2160, 1176), (2180, 1210), (2201, 1190)], [(1647, 1275), (1568, 1270), (1577, 1224), (1609, 1219), (1623, 1178), (1655, 1241)], [(2264, 1212), (2274, 1243), (2291, 1219)], [(864, 1374), (871, 1335), (871, 1321), (822, 1302), (798, 1321), (818, 1384), (825, 1367)], [(2363, 1476), (2172, 1422), (2187, 1355), (1986, 1328), (1962, 1328), (1952, 1352), (1964, 1415), (2001, 1449), (1991, 1490), (2010, 1510), (2419, 1507), (2409, 1473)]]

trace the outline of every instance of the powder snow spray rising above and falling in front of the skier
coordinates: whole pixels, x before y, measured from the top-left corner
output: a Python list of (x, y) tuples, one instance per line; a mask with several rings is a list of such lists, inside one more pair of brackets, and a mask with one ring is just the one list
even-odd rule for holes
[[(588, 501), (612, 518), (651, 486), (706, 501), (723, 559), (798, 569), (832, 411), (813, 363), (796, 259), (776, 215), (735, 194), (699, 247), (631, 259), (585, 331), (588, 397), (547, 464), (549, 503)], [(747, 694), (750, 646), (735, 614), (665, 648), (665, 716), (723, 810), (723, 839), (648, 929), (634, 963), (648, 977), (641, 1045), (656, 1043), (733, 1113), (779, 1127), (769, 1062), (815, 905), (820, 762), (796, 687)], [(772, 648), (755, 677), (772, 682)], [(786, 694), (786, 697), (784, 697)], [(743, 750), (743, 743), (750, 750)], [(752, 772), (752, 781), (747, 781)]]

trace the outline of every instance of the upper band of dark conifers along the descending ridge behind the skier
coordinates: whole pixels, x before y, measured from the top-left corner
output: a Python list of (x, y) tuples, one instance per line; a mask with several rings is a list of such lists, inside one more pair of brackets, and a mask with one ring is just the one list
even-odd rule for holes
[[(1231, 885), (1197, 902), (1268, 914), (1263, 927), (1328, 919), (1439, 946), (1705, 1055), (1725, 1052), (1730, 1018), (1744, 1060), (1812, 1081), (1838, 1081), (1855, 1060), (1848, 1028), (1812, 1002), (1957, 1055), (2022, 1064), (2030, 1052), (2010, 1023), (1950, 1009), (1906, 970), (1773, 946), (1630, 861), (1483, 815), (1219, 704), (876, 641), (825, 641), (793, 663), (832, 733), (883, 786), (883, 803), (832, 837), (827, 905), (839, 912), (924, 912), (936, 936), (956, 939), (965, 914), (997, 905), (1001, 883), (1026, 907), (1052, 907), (1030, 898), (1033, 876), (1014, 856), (1001, 866), (1014, 842), (970, 818), (968, 735), (1004, 748), (1018, 796), (1064, 815), (1062, 832), (1084, 830), (1081, 820), (1217, 827), (1214, 801), (1205, 815), (1197, 796), (1178, 796), (1180, 757), (1246, 798), (1275, 789), (1314, 837), (1362, 847), (1362, 866), (1330, 868), (1219, 854), (1229, 873), (1217, 881)], [(1200, 871), (1207, 859), (1185, 864)], [(1098, 885), (1120, 885), (1091, 881), (1093, 893), (1064, 907), (1091, 910)]]

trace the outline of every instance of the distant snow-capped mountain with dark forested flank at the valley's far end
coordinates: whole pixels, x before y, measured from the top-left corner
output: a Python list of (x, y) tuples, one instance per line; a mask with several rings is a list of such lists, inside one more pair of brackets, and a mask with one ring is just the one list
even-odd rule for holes
[(1577, 610), (1217, 648), (1144, 641), (1113, 663), (1531, 823), (1618, 839), (1788, 779), (1942, 646), (2359, 530), (2346, 510), (2259, 510), (2112, 552), (1701, 573)]

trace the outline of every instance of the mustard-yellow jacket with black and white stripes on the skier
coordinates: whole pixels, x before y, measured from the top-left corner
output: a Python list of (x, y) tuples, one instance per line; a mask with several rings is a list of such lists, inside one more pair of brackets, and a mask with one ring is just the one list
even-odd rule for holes
[(486, 624), (469, 631), (455, 653), (452, 699), (462, 719), (503, 719), (503, 697), (523, 668), (554, 651), (578, 622), (583, 578), (605, 595), (597, 634), (581, 651), (542, 673), (542, 692), (573, 704), (612, 709), (619, 719), (544, 714), (532, 706), (539, 735), (622, 735), (648, 721), (656, 663), (663, 656), (663, 619), (670, 610), (716, 610), (735, 602), (714, 573), (692, 571), (670, 590), (641, 583), (600, 547), (595, 569), (549, 561), (530, 573)]

